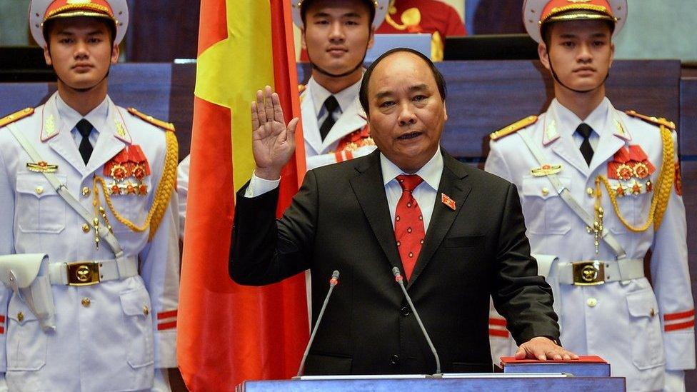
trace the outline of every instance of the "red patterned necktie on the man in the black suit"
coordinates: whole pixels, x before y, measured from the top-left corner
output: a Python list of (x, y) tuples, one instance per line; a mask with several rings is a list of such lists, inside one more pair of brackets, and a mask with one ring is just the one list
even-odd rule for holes
[(401, 174), (397, 176), (399, 186), (402, 187), (402, 196), (397, 203), (397, 211), (394, 216), (394, 237), (397, 240), (399, 257), (402, 259), (406, 280), (411, 278), (411, 272), (416, 265), (418, 253), (421, 251), (423, 238), (426, 232), (423, 230), (423, 216), (421, 208), (418, 208), (416, 199), (411, 192), (421, 184), (421, 177)]

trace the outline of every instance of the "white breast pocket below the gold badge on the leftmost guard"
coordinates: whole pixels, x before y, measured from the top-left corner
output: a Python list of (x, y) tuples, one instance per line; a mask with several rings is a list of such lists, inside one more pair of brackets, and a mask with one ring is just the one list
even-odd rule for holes
[[(67, 177), (56, 175), (66, 185)], [(16, 182), (16, 222), (23, 233), (60, 233), (67, 205), (40, 173), (21, 173)]]

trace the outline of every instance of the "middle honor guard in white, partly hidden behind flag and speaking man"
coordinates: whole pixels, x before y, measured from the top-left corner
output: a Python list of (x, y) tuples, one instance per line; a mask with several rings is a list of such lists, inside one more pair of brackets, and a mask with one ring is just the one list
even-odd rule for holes
[[(363, 60), (373, 46), (375, 29), (385, 19), (388, 0), (290, 0), (293, 21), (312, 64), (301, 92), (307, 170), (370, 154), (366, 114), (358, 101)], [(306, 28), (306, 21), (308, 27)], [(179, 164), (181, 235), (189, 194), (189, 157)]]

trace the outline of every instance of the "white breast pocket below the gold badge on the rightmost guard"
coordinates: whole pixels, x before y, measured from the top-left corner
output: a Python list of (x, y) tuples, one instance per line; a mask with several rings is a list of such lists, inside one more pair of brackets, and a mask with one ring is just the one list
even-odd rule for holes
[[(557, 177), (571, 191), (571, 179)], [(531, 233), (564, 234), (571, 229), (568, 208), (547, 177), (523, 177), (523, 215)]]

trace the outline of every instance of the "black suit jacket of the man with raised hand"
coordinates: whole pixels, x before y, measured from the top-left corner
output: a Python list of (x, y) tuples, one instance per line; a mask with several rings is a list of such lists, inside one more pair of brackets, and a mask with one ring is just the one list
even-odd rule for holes
[[(441, 358), (443, 372), (491, 371), (489, 295), (518, 343), (558, 338), (548, 284), (530, 256), (518, 192), (443, 153), (443, 174), (407, 290)], [(313, 323), (319, 326), (307, 374), (433, 373), (436, 361), (394, 280), (402, 273), (378, 151), (309, 171), (283, 218), (278, 191), (235, 208), (230, 275), (274, 283), (311, 269)], [(441, 203), (441, 193), (456, 210)]]

